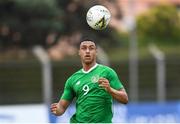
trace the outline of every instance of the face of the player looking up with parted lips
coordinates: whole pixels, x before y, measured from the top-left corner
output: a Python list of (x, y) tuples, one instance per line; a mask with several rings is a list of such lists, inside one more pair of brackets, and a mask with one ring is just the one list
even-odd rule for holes
[(92, 64), (96, 61), (97, 49), (92, 41), (83, 41), (80, 44), (79, 55), (84, 64)]

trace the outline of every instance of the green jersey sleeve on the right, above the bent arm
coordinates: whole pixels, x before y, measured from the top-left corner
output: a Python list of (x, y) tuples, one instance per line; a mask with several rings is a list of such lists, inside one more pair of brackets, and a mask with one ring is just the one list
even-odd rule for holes
[(124, 86), (118, 78), (117, 73), (113, 69), (110, 69), (109, 71), (109, 82), (110, 86), (116, 90), (124, 88)]

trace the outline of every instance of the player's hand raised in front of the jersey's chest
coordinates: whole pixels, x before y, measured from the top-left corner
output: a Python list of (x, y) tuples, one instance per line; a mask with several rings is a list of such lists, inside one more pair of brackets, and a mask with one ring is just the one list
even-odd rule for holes
[(104, 88), (106, 91), (111, 90), (109, 81), (106, 78), (99, 78), (98, 83), (99, 83), (99, 86)]

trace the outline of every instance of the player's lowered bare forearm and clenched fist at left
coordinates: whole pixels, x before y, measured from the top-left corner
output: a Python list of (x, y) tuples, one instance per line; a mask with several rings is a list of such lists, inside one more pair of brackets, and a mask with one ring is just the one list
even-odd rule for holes
[(56, 116), (60, 116), (66, 111), (69, 104), (70, 102), (67, 100), (59, 100), (58, 103), (51, 104), (51, 112)]

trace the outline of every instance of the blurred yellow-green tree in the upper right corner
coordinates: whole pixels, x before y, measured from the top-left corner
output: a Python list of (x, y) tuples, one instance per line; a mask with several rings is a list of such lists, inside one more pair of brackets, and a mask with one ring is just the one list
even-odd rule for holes
[(180, 17), (171, 5), (158, 5), (137, 18), (138, 37), (141, 44), (180, 43)]

